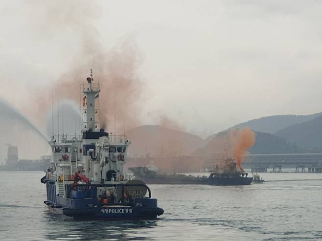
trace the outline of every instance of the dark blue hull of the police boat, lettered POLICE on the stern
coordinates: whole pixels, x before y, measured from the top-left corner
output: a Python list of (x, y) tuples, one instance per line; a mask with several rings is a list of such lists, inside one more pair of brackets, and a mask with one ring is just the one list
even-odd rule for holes
[(86, 194), (73, 191), (73, 195), (68, 194), (72, 198), (65, 198), (56, 195), (55, 183), (47, 182), (47, 200), (44, 203), (51, 208), (61, 208), (64, 215), (77, 220), (156, 219), (163, 214), (155, 198), (133, 198), (130, 202), (103, 204), (96, 198), (95, 186), (92, 187)]

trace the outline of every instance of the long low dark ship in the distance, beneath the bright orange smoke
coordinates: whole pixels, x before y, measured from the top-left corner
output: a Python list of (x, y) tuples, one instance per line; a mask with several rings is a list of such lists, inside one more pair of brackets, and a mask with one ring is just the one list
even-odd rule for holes
[(226, 159), (224, 166), (216, 165), (209, 176), (193, 176), (184, 174), (158, 174), (147, 167), (129, 168), (133, 174), (148, 184), (206, 184), (206, 185), (249, 185), (253, 177), (248, 177), (244, 170), (237, 169), (233, 159)]

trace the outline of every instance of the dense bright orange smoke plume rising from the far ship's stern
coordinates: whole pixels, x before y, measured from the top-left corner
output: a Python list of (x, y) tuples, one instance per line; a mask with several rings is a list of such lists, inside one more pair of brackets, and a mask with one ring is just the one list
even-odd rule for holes
[(255, 132), (248, 127), (241, 130), (230, 131), (230, 140), (232, 143), (232, 156), (235, 158), (237, 167), (241, 169), (244, 155), (255, 143)]

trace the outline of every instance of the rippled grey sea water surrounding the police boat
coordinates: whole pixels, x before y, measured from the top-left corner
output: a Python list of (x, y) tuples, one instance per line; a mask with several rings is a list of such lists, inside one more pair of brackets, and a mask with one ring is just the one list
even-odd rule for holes
[[(322, 240), (322, 174), (247, 186), (149, 185), (156, 220), (75, 221), (43, 203), (43, 172), (0, 172), (0, 240)], [(298, 180), (297, 180), (298, 179)]]

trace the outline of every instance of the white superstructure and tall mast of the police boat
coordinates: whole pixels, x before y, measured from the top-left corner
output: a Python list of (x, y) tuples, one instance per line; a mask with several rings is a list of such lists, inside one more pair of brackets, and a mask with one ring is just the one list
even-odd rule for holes
[[(67, 185), (75, 180), (75, 174), (86, 176), (92, 183), (127, 182), (132, 175), (123, 172), (130, 141), (125, 135), (110, 135), (99, 129), (95, 102), (99, 98), (100, 85), (91, 77), (82, 85), (83, 107), (86, 122), (81, 135), (52, 135), (52, 166), (47, 179), (56, 182), (56, 194), (66, 197)], [(102, 188), (108, 191), (108, 188)]]

